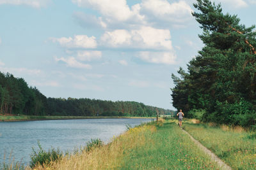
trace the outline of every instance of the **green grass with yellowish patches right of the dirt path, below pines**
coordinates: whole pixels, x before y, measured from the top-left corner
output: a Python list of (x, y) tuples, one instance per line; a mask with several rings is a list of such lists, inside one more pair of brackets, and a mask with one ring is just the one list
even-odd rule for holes
[(188, 123), (184, 129), (233, 169), (256, 169), (255, 132)]

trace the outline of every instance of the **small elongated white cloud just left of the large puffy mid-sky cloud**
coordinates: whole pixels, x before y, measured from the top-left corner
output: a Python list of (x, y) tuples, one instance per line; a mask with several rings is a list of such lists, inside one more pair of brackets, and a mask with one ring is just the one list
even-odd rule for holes
[(97, 41), (94, 36), (88, 37), (86, 35), (75, 35), (74, 38), (50, 38), (53, 42), (60, 43), (61, 46), (67, 48), (96, 48)]

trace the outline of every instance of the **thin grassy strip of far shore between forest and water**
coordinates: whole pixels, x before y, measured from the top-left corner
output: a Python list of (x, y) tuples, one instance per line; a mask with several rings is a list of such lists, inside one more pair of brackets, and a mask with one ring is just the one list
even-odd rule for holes
[(79, 116), (29, 116), (29, 115), (0, 115), (0, 122), (26, 122), (39, 120), (73, 120), (98, 118), (156, 118), (156, 117), (79, 117)]

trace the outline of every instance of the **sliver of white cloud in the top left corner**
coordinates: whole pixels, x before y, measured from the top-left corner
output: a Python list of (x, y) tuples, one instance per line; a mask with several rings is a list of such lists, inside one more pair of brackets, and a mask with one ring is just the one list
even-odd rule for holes
[(33, 8), (41, 8), (49, 4), (51, 0), (0, 0), (0, 4), (28, 5)]

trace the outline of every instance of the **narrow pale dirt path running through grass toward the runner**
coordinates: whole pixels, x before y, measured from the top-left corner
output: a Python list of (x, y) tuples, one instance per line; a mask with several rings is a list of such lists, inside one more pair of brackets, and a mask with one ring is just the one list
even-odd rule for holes
[(212, 153), (211, 150), (205, 148), (205, 146), (202, 145), (199, 141), (196, 141), (196, 139), (193, 138), (193, 136), (191, 136), (187, 131), (185, 131), (184, 129), (182, 129), (182, 131), (185, 132), (186, 134), (188, 134), (188, 136), (190, 136), (192, 141), (194, 141), (196, 143), (196, 145), (198, 145), (201, 150), (203, 150), (205, 153), (207, 153), (211, 157), (212, 160), (217, 162), (217, 164), (221, 167), (221, 169), (228, 169), (228, 170), (232, 169), (230, 166), (225, 164), (220, 158), (218, 158), (214, 153)]

